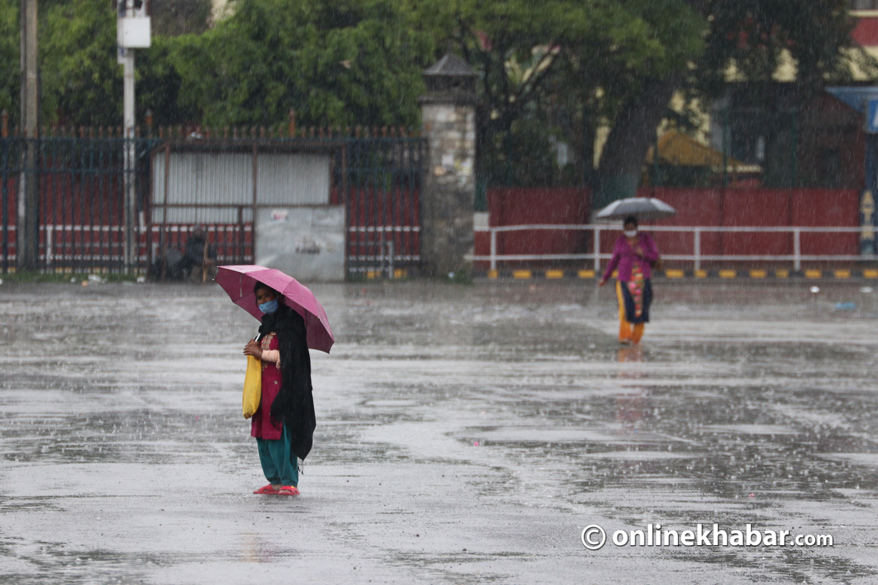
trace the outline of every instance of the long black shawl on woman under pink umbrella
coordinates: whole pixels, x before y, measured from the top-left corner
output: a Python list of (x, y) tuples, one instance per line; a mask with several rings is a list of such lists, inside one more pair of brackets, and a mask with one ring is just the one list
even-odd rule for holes
[(305, 319), (284, 304), (263, 315), (259, 334), (277, 334), (280, 349), (281, 387), (271, 403), (270, 417), (284, 424), (291, 439), (291, 451), (304, 460), (311, 451), (314, 427), (314, 399), (311, 394), (311, 356), (308, 354)]

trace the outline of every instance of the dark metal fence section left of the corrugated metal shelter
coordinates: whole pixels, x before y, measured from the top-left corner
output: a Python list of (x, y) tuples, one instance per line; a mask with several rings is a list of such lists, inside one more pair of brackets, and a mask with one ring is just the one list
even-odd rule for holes
[(25, 264), (25, 248), (32, 250), (26, 268), (40, 272), (146, 268), (147, 155), (155, 140), (94, 134), (0, 138), (4, 273)]

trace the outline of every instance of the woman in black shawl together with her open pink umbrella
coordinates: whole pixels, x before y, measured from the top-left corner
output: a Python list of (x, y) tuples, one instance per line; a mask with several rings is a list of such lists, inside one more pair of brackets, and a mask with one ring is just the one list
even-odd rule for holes
[(304, 460), (311, 451), (316, 427), (308, 348), (329, 353), (335, 342), (326, 311), (309, 289), (279, 270), (223, 266), (215, 281), (262, 322), (259, 342), (244, 347), (248, 360), (260, 360), (261, 365), (261, 393), (250, 434), (269, 481), (254, 493), (298, 496), (297, 458)]

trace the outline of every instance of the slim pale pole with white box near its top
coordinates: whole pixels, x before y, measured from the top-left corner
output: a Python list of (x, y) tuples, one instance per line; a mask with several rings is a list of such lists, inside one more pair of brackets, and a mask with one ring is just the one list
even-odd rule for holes
[(119, 18), (116, 21), (116, 40), (119, 44), (119, 63), (125, 67), (123, 80), (125, 118), (125, 266), (131, 272), (137, 260), (137, 241), (134, 230), (137, 222), (137, 198), (134, 190), (134, 51), (149, 47), (148, 0), (117, 0)]

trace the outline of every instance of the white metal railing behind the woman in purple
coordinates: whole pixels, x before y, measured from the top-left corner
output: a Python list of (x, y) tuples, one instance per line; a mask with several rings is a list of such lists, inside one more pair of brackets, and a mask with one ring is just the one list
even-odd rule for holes
[[(555, 231), (594, 231), (594, 245), (592, 253), (554, 253), (554, 254), (498, 254), (497, 234), (499, 232), (525, 232), (533, 230)], [(805, 233), (860, 233), (869, 228), (863, 227), (714, 227), (714, 226), (682, 226), (682, 225), (650, 225), (644, 227), (644, 232), (691, 232), (693, 234), (692, 254), (662, 254), (664, 260), (684, 260), (694, 263), (694, 269), (702, 268), (702, 260), (781, 260), (793, 262), (796, 271), (802, 270), (802, 260), (878, 260), (878, 256), (863, 254), (802, 254), (802, 232)], [(534, 224), (534, 225), (499, 225), (496, 227), (476, 227), (475, 232), (489, 232), (491, 234), (491, 252), (485, 255), (473, 255), (472, 260), (489, 260), (491, 269), (497, 269), (498, 260), (592, 260), (594, 270), (601, 270), (601, 260), (609, 260), (612, 254), (600, 253), (601, 232), (619, 232), (618, 227), (607, 224), (564, 225), (564, 224)], [(702, 254), (702, 233), (726, 232), (726, 233), (790, 233), (793, 238), (792, 254)]]

